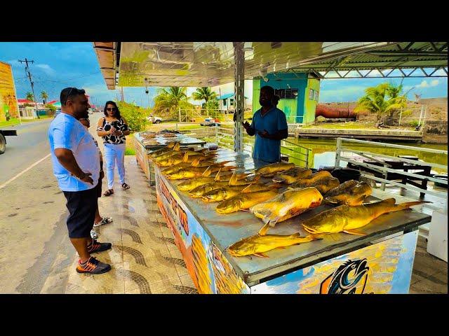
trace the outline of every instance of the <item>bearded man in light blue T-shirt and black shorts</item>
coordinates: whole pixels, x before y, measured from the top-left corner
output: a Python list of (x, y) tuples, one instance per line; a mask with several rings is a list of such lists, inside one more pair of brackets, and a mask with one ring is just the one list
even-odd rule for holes
[(48, 129), (53, 174), (67, 199), (67, 229), (79, 262), (76, 272), (102, 274), (111, 265), (100, 262), (91, 253), (106, 251), (110, 243), (91, 239), (91, 230), (97, 207), (96, 188), (100, 176), (100, 156), (91, 134), (79, 122), (88, 117), (88, 104), (84, 90), (67, 87), (61, 91), (61, 113)]

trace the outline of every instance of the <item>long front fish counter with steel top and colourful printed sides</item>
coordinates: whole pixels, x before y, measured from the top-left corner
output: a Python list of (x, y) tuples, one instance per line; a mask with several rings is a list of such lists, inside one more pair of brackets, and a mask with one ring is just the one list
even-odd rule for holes
[[(262, 167), (246, 153), (223, 148), (217, 150), (217, 160), (234, 161), (239, 172)], [(392, 212), (363, 227), (368, 235), (335, 233), (276, 248), (266, 253), (268, 258), (234, 257), (227, 248), (256, 235), (262, 221), (248, 211), (218, 214), (217, 203), (189, 197), (176, 187), (182, 180), (166, 179), (156, 166), (154, 171), (159, 209), (199, 293), (408, 293), (417, 227), (431, 221), (427, 214)], [(383, 194), (376, 195), (366, 202)], [(300, 221), (331, 207), (322, 204), (278, 223), (269, 234), (307, 236)]]

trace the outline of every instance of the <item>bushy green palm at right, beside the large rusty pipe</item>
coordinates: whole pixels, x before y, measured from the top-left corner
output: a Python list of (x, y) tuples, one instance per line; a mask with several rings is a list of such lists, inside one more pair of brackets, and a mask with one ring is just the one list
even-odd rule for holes
[[(377, 125), (407, 107), (406, 94), (402, 94), (402, 85), (397, 87), (391, 83), (382, 83), (375, 87), (368, 87), (365, 95), (358, 99), (354, 109), (358, 111), (370, 111), (377, 117)], [(408, 112), (408, 111), (406, 111)]]

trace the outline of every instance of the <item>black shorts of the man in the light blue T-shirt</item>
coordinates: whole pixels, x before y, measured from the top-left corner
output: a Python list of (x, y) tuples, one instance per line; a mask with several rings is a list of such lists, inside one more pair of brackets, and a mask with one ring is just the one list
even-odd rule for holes
[(97, 211), (97, 187), (83, 191), (64, 191), (67, 199), (69, 238), (90, 238)]

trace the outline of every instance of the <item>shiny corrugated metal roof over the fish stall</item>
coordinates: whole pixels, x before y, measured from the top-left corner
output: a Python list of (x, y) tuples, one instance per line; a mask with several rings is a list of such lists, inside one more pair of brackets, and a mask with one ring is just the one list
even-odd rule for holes
[[(232, 42), (94, 42), (109, 89), (234, 81)], [(245, 78), (263, 73), (447, 66), (445, 42), (244, 42)], [(262, 71), (262, 73), (261, 73)]]

